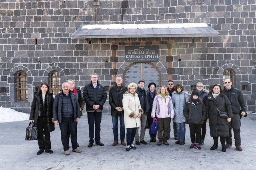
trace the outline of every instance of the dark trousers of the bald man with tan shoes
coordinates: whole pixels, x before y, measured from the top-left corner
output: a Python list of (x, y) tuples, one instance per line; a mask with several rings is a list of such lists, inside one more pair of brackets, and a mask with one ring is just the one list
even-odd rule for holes
[(62, 117), (60, 125), (61, 131), (61, 142), (63, 145), (63, 149), (68, 150), (68, 129), (70, 132), (72, 149), (77, 148), (77, 136), (76, 136), (76, 121), (74, 121), (74, 117)]

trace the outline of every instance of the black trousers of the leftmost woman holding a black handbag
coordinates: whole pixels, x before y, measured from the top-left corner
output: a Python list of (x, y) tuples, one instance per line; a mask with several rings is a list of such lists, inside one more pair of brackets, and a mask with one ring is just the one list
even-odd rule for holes
[(50, 132), (47, 127), (47, 116), (38, 116), (37, 119), (37, 133), (38, 133), (38, 146), (39, 149), (49, 150), (52, 149)]

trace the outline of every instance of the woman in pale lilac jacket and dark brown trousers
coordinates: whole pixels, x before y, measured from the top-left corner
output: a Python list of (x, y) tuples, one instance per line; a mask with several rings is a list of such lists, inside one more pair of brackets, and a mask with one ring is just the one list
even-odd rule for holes
[(160, 86), (158, 89), (158, 95), (154, 98), (151, 117), (156, 117), (158, 121), (157, 137), (159, 142), (157, 145), (162, 145), (163, 141), (164, 145), (169, 145), (167, 142), (168, 125), (170, 125), (171, 119), (174, 118), (174, 110), (172, 105), (172, 98), (169, 96), (165, 86)]

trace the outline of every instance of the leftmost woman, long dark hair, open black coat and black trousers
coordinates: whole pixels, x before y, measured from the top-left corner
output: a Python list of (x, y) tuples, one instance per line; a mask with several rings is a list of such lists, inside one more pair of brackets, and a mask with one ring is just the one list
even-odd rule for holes
[(30, 122), (34, 122), (38, 131), (38, 146), (37, 154), (42, 152), (53, 153), (50, 141), (50, 132), (54, 131), (52, 105), (54, 98), (49, 92), (47, 83), (40, 85), (40, 91), (35, 92), (30, 109)]

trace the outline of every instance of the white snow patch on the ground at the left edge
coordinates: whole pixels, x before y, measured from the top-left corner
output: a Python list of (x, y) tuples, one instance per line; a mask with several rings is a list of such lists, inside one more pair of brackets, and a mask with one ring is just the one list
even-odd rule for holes
[(0, 123), (11, 121), (28, 120), (29, 115), (26, 113), (18, 112), (14, 109), (0, 107)]

